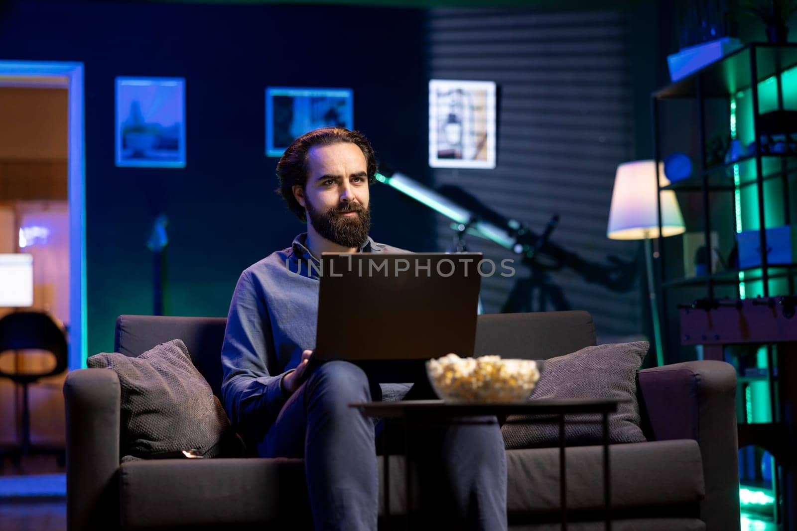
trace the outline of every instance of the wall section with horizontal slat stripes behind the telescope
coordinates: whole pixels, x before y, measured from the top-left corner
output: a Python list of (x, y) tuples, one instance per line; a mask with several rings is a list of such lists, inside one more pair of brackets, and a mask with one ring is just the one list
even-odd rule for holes
[[(430, 11), (430, 77), (498, 84), (497, 168), (434, 170), (435, 185), (459, 185), (506, 217), (542, 232), (560, 216), (552, 242), (585, 260), (608, 254), (634, 260), (637, 242), (607, 240), (619, 162), (634, 156), (629, 19), (612, 11)], [(451, 245), (450, 221), (438, 217), (438, 245)], [(474, 236), (468, 250), (496, 263), (513, 255)], [(644, 270), (642, 270), (643, 272)], [(516, 276), (482, 281), (485, 313), (500, 312)], [(637, 334), (638, 288), (618, 293), (575, 271), (550, 274), (573, 309), (589, 310), (599, 338)], [(535, 310), (552, 310), (537, 298)]]

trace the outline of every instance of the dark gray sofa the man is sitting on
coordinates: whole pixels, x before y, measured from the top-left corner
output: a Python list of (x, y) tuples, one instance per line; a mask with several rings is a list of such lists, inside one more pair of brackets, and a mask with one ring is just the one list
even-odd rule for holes
[[(226, 320), (123, 315), (116, 351), (136, 356), (180, 338), (218, 394)], [(540, 359), (595, 344), (586, 312), (481, 315), (477, 355)], [(612, 529), (739, 529), (736, 373), (720, 361), (642, 370), (649, 442), (611, 447)], [(296, 529), (308, 525), (300, 459), (162, 459), (120, 464), (120, 385), (110, 369), (70, 373), (67, 522), (79, 529)], [(391, 459), (391, 507), (404, 467)], [(559, 529), (555, 448), (507, 451), (510, 529)], [(380, 466), (382, 459), (379, 459)], [(600, 447), (567, 450), (568, 529), (603, 529)], [(380, 473), (381, 475), (381, 473)], [(302, 519), (303, 518), (303, 519)]]

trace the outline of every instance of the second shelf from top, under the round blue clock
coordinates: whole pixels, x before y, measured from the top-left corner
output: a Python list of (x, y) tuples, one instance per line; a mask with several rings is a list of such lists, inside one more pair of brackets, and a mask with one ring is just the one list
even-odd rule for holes
[[(732, 192), (733, 167), (739, 168), (740, 187), (756, 185), (756, 155), (741, 157), (728, 164), (712, 166), (708, 170), (698, 172), (692, 177), (681, 179), (669, 185), (662, 186), (662, 190), (675, 190), (677, 192), (701, 192), (703, 176), (709, 177), (709, 192)], [(797, 172), (797, 154), (767, 154), (761, 155), (761, 167), (764, 169), (764, 181), (780, 178), (784, 173)]]

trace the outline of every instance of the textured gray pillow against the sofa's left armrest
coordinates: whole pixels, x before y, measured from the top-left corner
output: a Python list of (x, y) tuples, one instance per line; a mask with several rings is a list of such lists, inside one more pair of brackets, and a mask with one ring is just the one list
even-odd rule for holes
[(192, 448), (205, 457), (221, 451), (230, 420), (181, 340), (161, 343), (139, 357), (96, 354), (88, 366), (119, 375), (124, 460), (179, 456)]

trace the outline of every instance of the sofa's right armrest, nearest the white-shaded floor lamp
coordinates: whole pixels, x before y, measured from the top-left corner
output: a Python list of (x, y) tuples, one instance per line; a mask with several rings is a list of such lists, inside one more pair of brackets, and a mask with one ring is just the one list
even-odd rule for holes
[(642, 426), (649, 439), (695, 439), (701, 448), (706, 529), (739, 529), (736, 369), (687, 361), (638, 375)]

